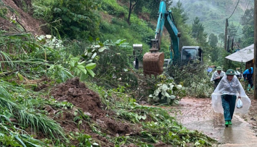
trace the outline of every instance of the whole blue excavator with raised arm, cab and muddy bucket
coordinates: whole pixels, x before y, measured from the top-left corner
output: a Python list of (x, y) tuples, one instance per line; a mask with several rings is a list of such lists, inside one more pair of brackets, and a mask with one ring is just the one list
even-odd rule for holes
[(164, 53), (159, 52), (161, 46), (162, 32), (165, 28), (170, 35), (170, 63), (183, 66), (192, 60), (199, 60), (203, 63), (203, 49), (199, 46), (184, 46), (179, 48), (178, 32), (171, 10), (167, 10), (166, 0), (160, 1), (159, 17), (155, 31), (155, 39), (152, 39), (152, 47), (149, 52), (143, 55), (143, 74), (144, 76), (153, 74), (155, 77), (163, 72)]

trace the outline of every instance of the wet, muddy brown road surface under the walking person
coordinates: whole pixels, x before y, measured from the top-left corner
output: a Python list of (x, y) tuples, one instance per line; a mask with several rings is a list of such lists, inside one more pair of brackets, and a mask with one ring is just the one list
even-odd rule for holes
[(189, 130), (199, 130), (216, 139), (217, 147), (255, 147), (256, 134), (250, 124), (234, 114), (232, 126), (225, 127), (223, 114), (215, 113), (211, 99), (183, 98), (179, 106), (177, 118)]

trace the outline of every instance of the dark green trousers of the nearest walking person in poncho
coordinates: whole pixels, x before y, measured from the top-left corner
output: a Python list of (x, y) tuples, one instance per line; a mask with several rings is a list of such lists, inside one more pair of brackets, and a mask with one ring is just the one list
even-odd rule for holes
[(237, 96), (224, 94), (221, 96), (225, 121), (232, 120)]

